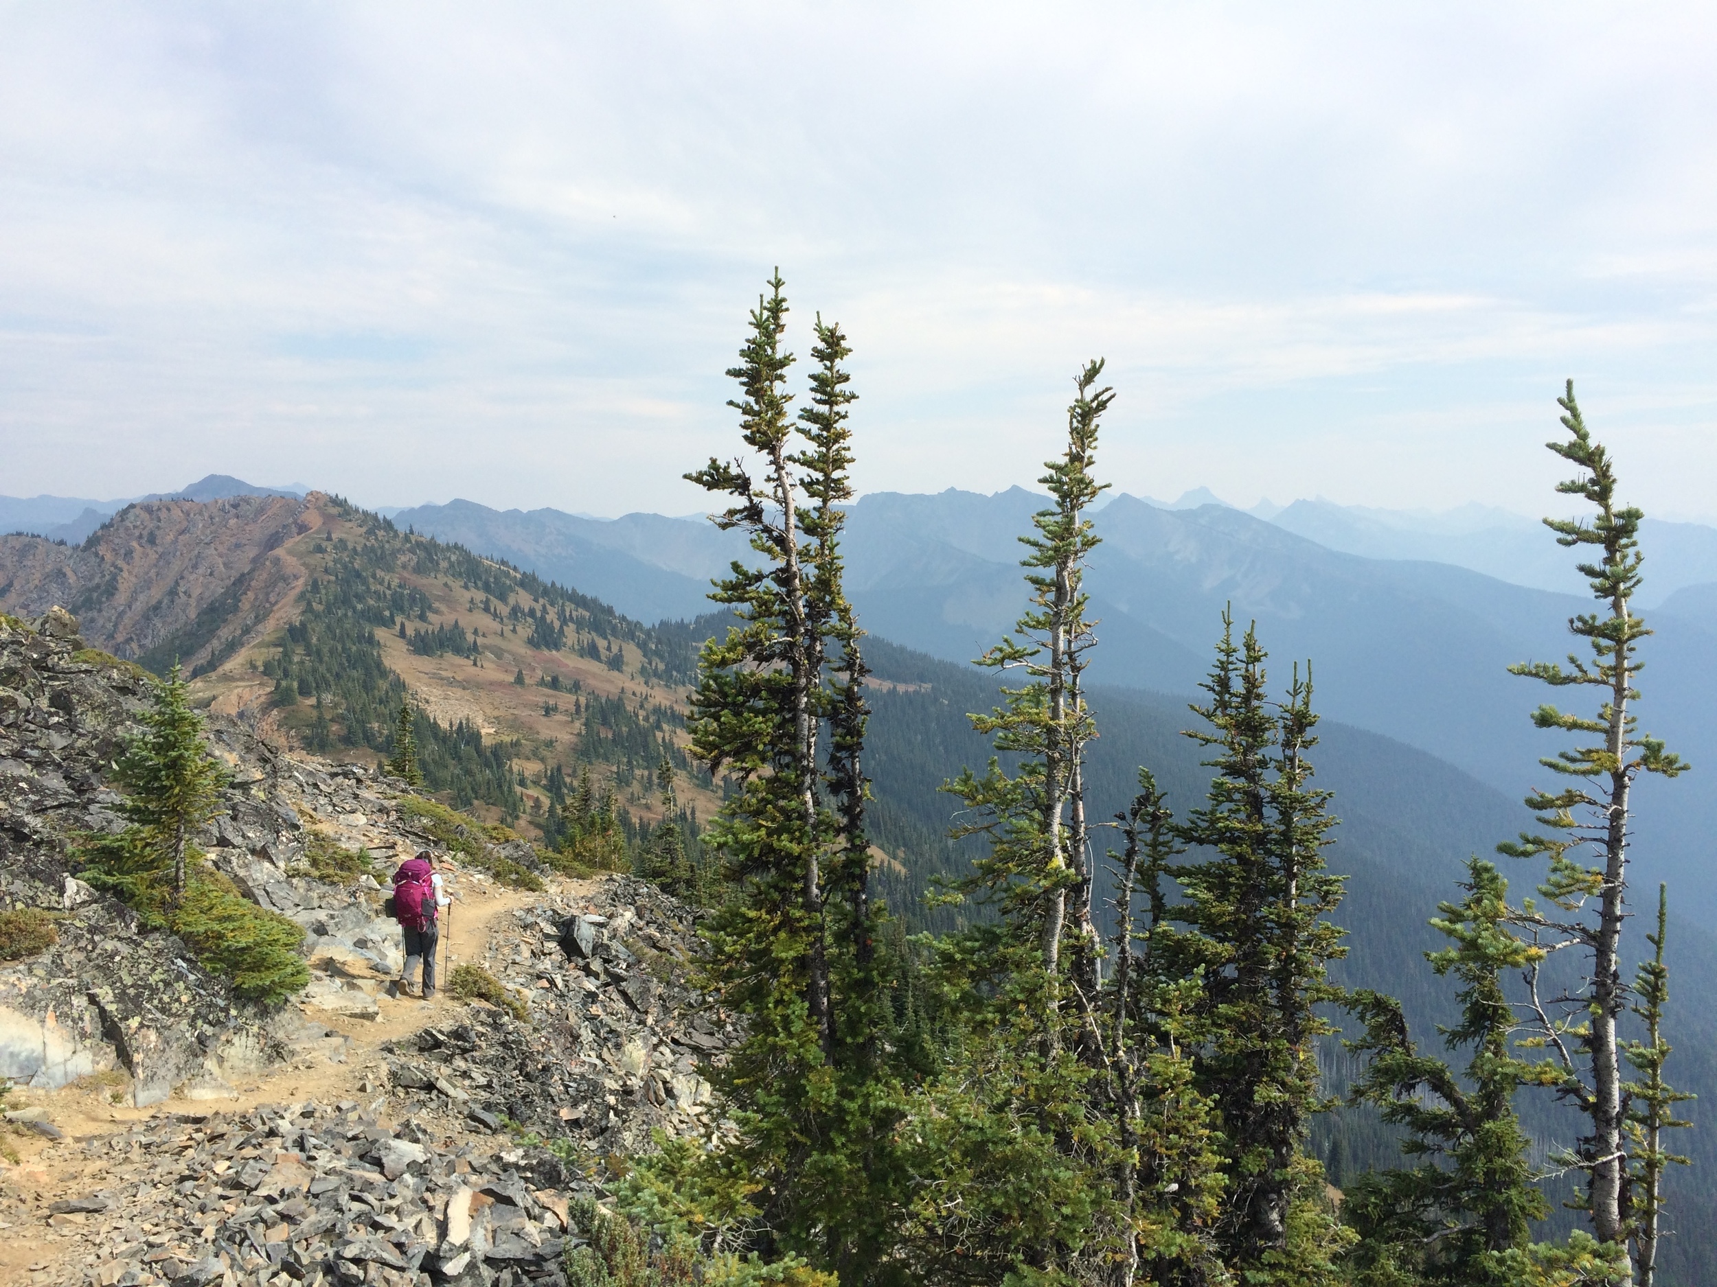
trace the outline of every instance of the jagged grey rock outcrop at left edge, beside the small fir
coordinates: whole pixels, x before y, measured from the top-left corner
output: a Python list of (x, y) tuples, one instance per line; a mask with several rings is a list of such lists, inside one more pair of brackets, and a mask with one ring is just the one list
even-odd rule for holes
[(60, 1086), (124, 1067), (136, 1103), (283, 1054), (179, 939), (74, 877), (79, 832), (113, 831), (101, 770), (136, 731), (141, 673), (82, 649), (62, 609), (0, 619), (0, 899), (62, 913), (45, 952), (0, 968), (0, 1076)]

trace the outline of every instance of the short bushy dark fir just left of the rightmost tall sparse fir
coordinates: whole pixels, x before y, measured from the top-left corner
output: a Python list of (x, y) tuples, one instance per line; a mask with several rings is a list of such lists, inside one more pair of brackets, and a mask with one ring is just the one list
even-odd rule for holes
[(1401, 1150), (1417, 1160), (1348, 1186), (1343, 1215), (1360, 1230), (1351, 1261), (1362, 1284), (1518, 1287), (1528, 1222), (1549, 1215), (1514, 1095), (1554, 1069), (1516, 1054), (1523, 1024), (1502, 987), (1544, 951), (1509, 930), (1508, 882), (1494, 863), (1473, 858), (1461, 889), (1430, 921), (1453, 946), (1427, 959), (1463, 985), (1461, 1021), (1442, 1038), (1470, 1052), (1465, 1071), (1418, 1050), (1394, 997), (1363, 990), (1350, 1002), (1365, 1036), (1348, 1045), (1368, 1057), (1353, 1102), (1403, 1127)]

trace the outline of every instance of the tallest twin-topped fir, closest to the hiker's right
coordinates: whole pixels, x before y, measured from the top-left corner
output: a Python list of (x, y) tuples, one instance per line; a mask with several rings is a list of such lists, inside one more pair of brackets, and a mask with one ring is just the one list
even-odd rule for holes
[[(855, 777), (864, 673), (838, 554), (853, 395), (841, 367), (846, 341), (819, 317), (810, 407), (790, 417), (781, 287), (776, 275), (750, 316), (742, 366), (728, 372), (743, 391), (730, 405), (761, 477), (743, 460), (711, 460), (687, 475), (730, 499), (716, 523), (745, 532), (762, 556), (761, 568), (735, 563), (716, 582), (711, 599), (738, 625), (704, 645), (689, 721), (694, 753), (738, 782), (706, 831), (733, 892), (711, 932), (711, 971), (747, 1019), (725, 1071), (743, 1141), (721, 1163), (762, 1186), (776, 1248), (862, 1280), (884, 1272), (895, 1205), (886, 1193), (893, 1170), (877, 1157), (891, 1095), (886, 1072), (869, 1062), (874, 1004), (860, 961), (872, 913), (852, 870), (853, 853), (869, 848)], [(831, 664), (845, 674), (841, 692), (831, 688)], [(840, 726), (838, 709), (846, 710)], [(833, 782), (819, 764), (829, 734)], [(831, 904), (841, 894), (857, 918)]]

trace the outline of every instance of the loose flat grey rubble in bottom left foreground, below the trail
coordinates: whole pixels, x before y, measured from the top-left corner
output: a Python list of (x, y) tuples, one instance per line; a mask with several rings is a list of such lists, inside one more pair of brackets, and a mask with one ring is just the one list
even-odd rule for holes
[(88, 1141), (101, 1187), (46, 1208), (57, 1282), (565, 1285), (577, 1174), (541, 1148), (390, 1129), (378, 1109), (172, 1114)]

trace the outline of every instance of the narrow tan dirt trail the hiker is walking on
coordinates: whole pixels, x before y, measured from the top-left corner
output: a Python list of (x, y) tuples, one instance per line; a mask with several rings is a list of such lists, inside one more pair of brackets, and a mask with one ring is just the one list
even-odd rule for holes
[(452, 915), (443, 923), (438, 980), (441, 990), (436, 997), (428, 1002), (403, 995), (381, 997), (381, 1012), (374, 1021), (306, 1011), (318, 1023), (352, 1038), (343, 1064), (318, 1062), (309, 1067), (285, 1064), (244, 1081), (237, 1086), (237, 1098), (187, 1102), (175, 1095), (148, 1109), (113, 1105), (110, 1102), (112, 1085), (105, 1085), (100, 1078), (86, 1078), (84, 1083), (72, 1083), (62, 1090), (26, 1088), (14, 1091), (12, 1107), (39, 1105), (65, 1134), (65, 1139), (50, 1141), (36, 1134), (5, 1138), (5, 1143), (15, 1148), (19, 1162), (0, 1167), (0, 1287), (48, 1282), (57, 1277), (60, 1261), (70, 1248), (62, 1246), (48, 1224), (46, 1206), (69, 1194), (88, 1193), (100, 1184), (100, 1163), (88, 1158), (81, 1148), (82, 1143), (113, 1134), (132, 1122), (158, 1114), (247, 1110), (259, 1103), (304, 1100), (367, 1103), (381, 1098), (386, 1088), (386, 1072), (381, 1064), (383, 1043), (445, 1023), (465, 1007), (465, 1002), (448, 997), (446, 978), (453, 964), (482, 956), (496, 920), (515, 908), (555, 894), (587, 896), (592, 887), (594, 882), (587, 880), (555, 879), (549, 882), (549, 889), (541, 894), (476, 887), (462, 891), (452, 906)]

